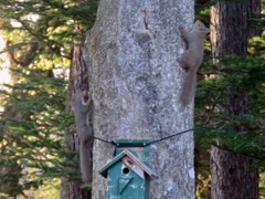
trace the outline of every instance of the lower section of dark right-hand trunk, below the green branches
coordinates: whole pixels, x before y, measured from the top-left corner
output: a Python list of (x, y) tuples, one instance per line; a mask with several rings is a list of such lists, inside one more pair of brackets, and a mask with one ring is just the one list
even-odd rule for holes
[(253, 164), (253, 158), (212, 146), (212, 198), (257, 199), (258, 171)]

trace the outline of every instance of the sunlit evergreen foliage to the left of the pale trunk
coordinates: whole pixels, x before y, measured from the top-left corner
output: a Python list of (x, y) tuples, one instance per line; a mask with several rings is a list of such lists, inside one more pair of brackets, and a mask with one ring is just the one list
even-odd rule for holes
[[(95, 20), (97, 0), (1, 0), (0, 28), (12, 82), (1, 85), (0, 197), (59, 198), (60, 178), (81, 180), (76, 153), (66, 150), (73, 134), (67, 69), (74, 40)], [(80, 30), (76, 31), (76, 24)], [(42, 190), (36, 193), (34, 190)], [(33, 191), (33, 192), (32, 192)], [(2, 195), (1, 195), (2, 193)]]

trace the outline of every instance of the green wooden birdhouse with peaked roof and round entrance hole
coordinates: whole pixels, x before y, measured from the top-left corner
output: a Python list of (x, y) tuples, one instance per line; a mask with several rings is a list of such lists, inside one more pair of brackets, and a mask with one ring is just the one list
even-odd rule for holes
[(148, 199), (150, 179), (157, 174), (128, 149), (118, 154), (99, 170), (108, 178), (108, 199)]

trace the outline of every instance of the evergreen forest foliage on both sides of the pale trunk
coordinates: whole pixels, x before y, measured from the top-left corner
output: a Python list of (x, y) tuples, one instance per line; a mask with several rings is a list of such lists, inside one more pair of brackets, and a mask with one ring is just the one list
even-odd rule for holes
[[(195, 3), (195, 19), (206, 27), (214, 3)], [(264, 3), (261, 14), (250, 15), (250, 28), (265, 27)], [(85, 32), (93, 27), (97, 4), (96, 0), (0, 1), (2, 198), (60, 198), (62, 179), (82, 181), (77, 153), (65, 147), (65, 137), (75, 133), (67, 103), (73, 78), (70, 67), (73, 48), (84, 41)], [(216, 70), (210, 55), (210, 36), (205, 40), (194, 118), (198, 198), (210, 197), (209, 151), (216, 139), (220, 148), (256, 159), (259, 196), (265, 198), (265, 33), (250, 38), (247, 48), (245, 59), (220, 57), (236, 74), (232, 76), (225, 70)], [(219, 78), (211, 77), (215, 74)], [(216, 104), (227, 97), (227, 87), (247, 93), (246, 114), (227, 117), (216, 112)], [(234, 124), (245, 132), (235, 133)]]

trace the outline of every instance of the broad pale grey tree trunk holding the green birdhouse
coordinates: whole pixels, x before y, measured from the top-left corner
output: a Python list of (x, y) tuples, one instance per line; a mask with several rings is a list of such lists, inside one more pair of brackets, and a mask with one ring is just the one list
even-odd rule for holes
[[(96, 137), (159, 139), (193, 127), (193, 104), (180, 104), (186, 72), (177, 64), (184, 50), (179, 25), (191, 30), (193, 1), (102, 0), (87, 33), (86, 63)], [(114, 147), (94, 142), (93, 198), (106, 198), (99, 168)], [(193, 132), (151, 146), (159, 179), (150, 198), (194, 198)]]

